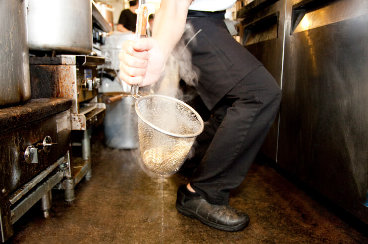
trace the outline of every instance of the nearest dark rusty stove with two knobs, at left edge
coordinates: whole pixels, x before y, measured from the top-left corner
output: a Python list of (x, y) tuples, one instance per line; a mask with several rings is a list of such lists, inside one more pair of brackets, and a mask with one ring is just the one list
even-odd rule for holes
[(72, 99), (32, 99), (0, 109), (0, 229), (12, 225), (42, 199), (45, 217), (51, 189), (69, 171)]

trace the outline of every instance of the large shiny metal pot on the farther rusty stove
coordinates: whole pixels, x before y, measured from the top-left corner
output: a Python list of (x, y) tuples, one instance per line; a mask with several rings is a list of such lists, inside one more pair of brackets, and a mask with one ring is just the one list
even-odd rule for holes
[(91, 0), (28, 0), (30, 50), (92, 51)]

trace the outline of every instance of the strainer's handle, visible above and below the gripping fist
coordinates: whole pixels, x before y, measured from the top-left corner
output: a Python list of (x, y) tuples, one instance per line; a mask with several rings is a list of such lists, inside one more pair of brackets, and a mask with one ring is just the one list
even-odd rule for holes
[[(139, 8), (137, 15), (137, 24), (135, 29), (135, 42), (142, 37), (147, 37), (147, 19), (148, 19), (148, 8), (147, 8), (147, 0), (138, 0)], [(140, 98), (138, 95), (138, 84), (132, 85), (130, 91), (132, 93), (132, 97), (135, 99)]]

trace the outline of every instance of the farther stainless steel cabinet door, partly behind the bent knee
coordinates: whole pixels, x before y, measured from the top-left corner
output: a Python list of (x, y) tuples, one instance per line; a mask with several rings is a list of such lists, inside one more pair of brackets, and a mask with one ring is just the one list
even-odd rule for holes
[[(281, 87), (286, 0), (268, 0), (242, 12), (241, 42), (271, 73)], [(259, 6), (262, 6), (260, 9)], [(258, 10), (257, 10), (258, 9)], [(241, 16), (241, 17), (242, 17)], [(276, 116), (261, 151), (277, 160), (278, 121)]]

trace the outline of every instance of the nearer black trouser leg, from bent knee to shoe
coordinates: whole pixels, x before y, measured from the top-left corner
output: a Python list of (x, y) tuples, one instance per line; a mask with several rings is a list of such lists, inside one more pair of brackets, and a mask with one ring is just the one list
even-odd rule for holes
[(191, 186), (208, 202), (226, 205), (230, 190), (244, 180), (281, 101), (281, 91), (264, 67), (228, 92), (234, 100), (197, 168)]

